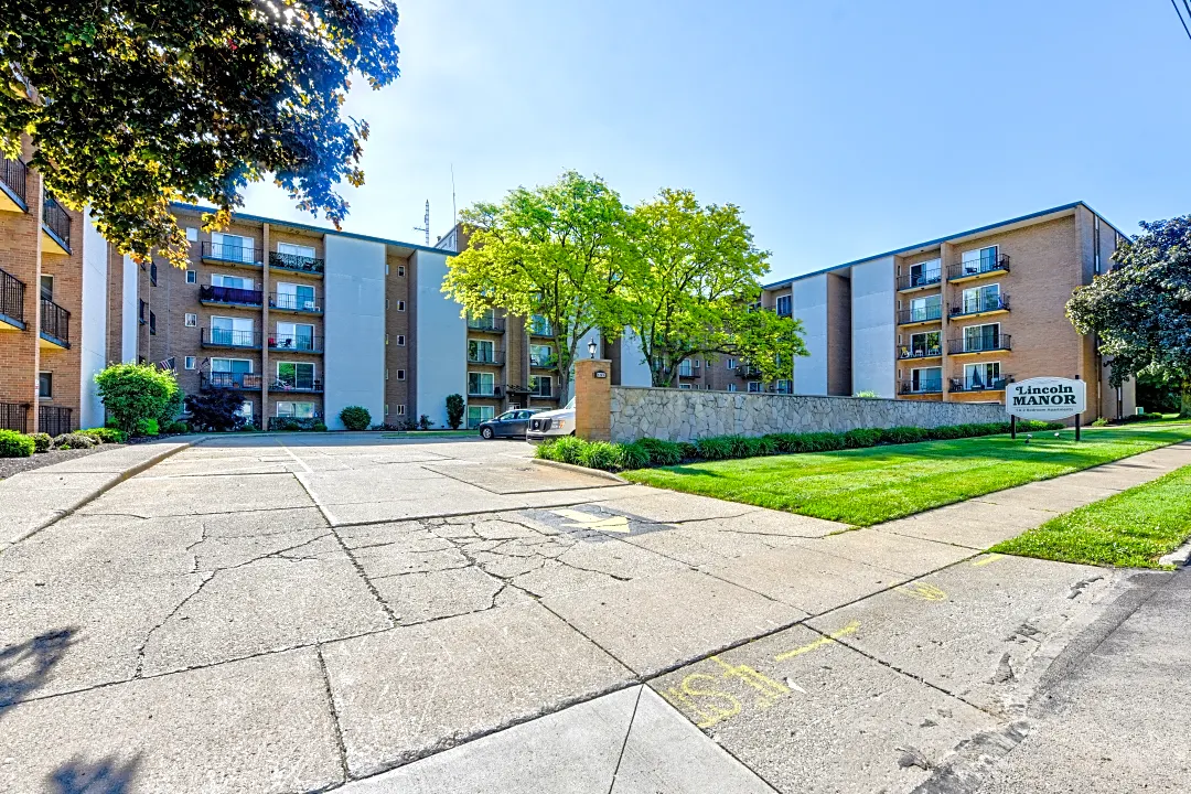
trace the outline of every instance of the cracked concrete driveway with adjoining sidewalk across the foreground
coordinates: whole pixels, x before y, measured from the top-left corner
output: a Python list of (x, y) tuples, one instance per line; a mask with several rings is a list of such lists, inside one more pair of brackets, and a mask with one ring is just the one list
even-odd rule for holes
[(513, 442), (202, 440), (0, 550), (0, 790), (983, 780), (1130, 588), (981, 550), (1189, 463), (848, 531)]

